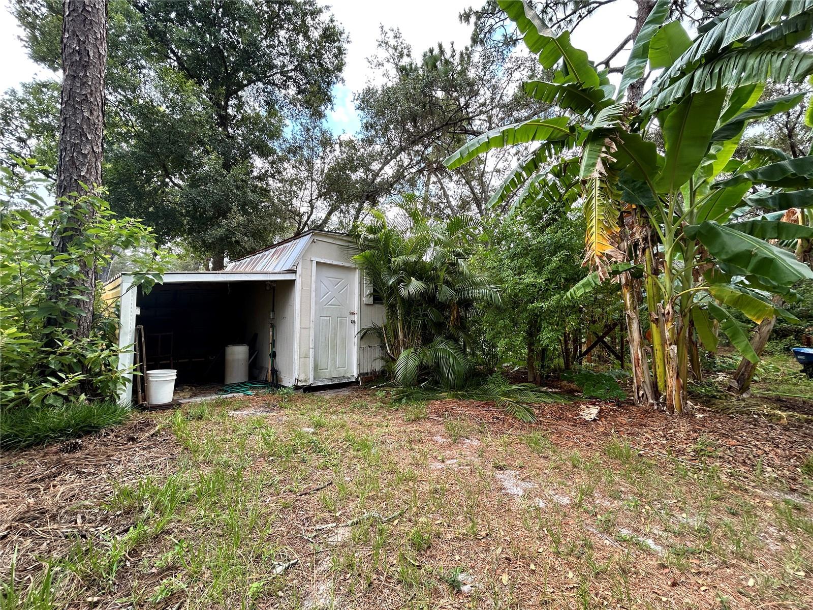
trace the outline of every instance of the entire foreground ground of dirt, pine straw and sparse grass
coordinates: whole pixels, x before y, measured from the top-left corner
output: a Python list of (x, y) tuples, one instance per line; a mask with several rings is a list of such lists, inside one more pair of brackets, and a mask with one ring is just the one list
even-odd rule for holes
[(37, 608), (811, 608), (813, 424), (581, 406), (256, 395), (7, 451), (0, 574)]

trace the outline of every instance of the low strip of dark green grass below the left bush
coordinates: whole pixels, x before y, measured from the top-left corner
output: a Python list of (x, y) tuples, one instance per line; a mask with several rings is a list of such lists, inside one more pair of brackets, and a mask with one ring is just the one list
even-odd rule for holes
[(129, 416), (130, 407), (109, 400), (8, 409), (0, 413), (0, 443), (3, 449), (24, 449), (80, 438), (120, 425)]

